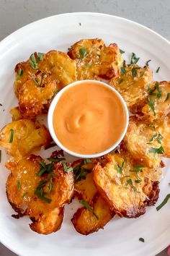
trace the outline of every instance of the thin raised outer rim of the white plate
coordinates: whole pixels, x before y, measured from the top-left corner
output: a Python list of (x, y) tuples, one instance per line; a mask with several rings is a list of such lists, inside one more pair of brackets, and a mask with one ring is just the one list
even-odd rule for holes
[[(6, 46), (8, 44), (8, 42), (10, 41), (11, 38), (15, 37), (15, 35), (17, 35), (17, 33), (22, 32), (22, 30), (27, 30), (28, 28), (31, 28), (32, 26), (35, 25), (35, 23), (41, 23), (44, 22), (45, 20), (50, 20), (51, 18), (55, 18), (55, 17), (65, 17), (65, 16), (76, 16), (76, 15), (91, 15), (91, 16), (104, 16), (104, 17), (113, 17), (117, 20), (123, 21), (123, 22), (128, 22), (129, 24), (133, 24), (133, 25), (137, 25), (140, 28), (143, 28), (144, 30), (148, 30), (148, 32), (152, 33), (153, 35), (156, 35), (158, 38), (160, 38), (161, 40), (164, 40), (165, 43), (167, 43), (167, 46), (170, 47), (170, 40), (164, 38), (164, 36), (160, 35), (159, 33), (157, 33), (156, 31), (152, 30), (149, 27), (146, 27), (146, 25), (142, 25), (138, 22), (135, 22), (133, 20), (129, 20), (127, 18), (124, 17), (120, 17), (117, 15), (112, 15), (112, 14), (107, 14), (107, 13), (102, 13), (102, 12), (66, 12), (66, 13), (61, 13), (61, 14), (54, 14), (54, 15), (50, 15), (47, 17), (44, 17), (42, 19), (39, 20), (35, 20), (33, 22), (28, 23), (27, 25), (24, 25), (22, 27), (19, 27), (19, 29), (14, 30), (14, 32), (12, 32), (11, 34), (7, 35), (5, 38), (3, 38), (2, 40), (0, 40), (0, 50), (3, 46)], [(5, 239), (3, 240), (0, 236), (0, 243), (4, 245), (4, 247), (6, 247), (7, 249), (9, 249), (11, 252), (14, 252), (16, 255), (19, 255), (19, 252), (17, 249), (10, 247), (10, 244), (7, 244), (5, 242)], [(162, 247), (159, 247), (159, 249), (155, 249), (153, 252), (151, 252), (153, 255), (157, 255), (158, 253), (160, 253), (162, 250), (166, 249), (166, 247), (168, 247), (169, 244), (166, 244)]]

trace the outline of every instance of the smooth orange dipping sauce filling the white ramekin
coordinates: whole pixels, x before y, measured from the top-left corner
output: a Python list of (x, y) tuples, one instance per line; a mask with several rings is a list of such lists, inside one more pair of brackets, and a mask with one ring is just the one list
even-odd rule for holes
[(112, 147), (125, 123), (125, 109), (116, 93), (89, 81), (64, 91), (53, 112), (58, 140), (68, 150), (84, 155)]

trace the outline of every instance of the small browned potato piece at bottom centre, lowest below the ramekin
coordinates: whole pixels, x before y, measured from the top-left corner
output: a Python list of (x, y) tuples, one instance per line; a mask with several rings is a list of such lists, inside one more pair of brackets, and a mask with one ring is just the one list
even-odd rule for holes
[(71, 219), (76, 231), (80, 234), (88, 235), (103, 229), (104, 226), (115, 216), (115, 213), (109, 210), (99, 194), (94, 197), (91, 210), (79, 208)]

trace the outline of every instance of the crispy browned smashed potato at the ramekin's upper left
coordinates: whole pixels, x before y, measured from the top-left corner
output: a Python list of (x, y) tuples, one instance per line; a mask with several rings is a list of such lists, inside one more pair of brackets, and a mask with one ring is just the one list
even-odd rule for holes
[[(76, 81), (76, 61), (61, 51), (49, 51), (39, 59), (34, 53), (37, 67), (30, 59), (15, 67), (14, 90), (19, 99), (19, 111), (27, 119), (48, 112), (50, 102), (59, 90)], [(19, 75), (22, 70), (22, 75)]]

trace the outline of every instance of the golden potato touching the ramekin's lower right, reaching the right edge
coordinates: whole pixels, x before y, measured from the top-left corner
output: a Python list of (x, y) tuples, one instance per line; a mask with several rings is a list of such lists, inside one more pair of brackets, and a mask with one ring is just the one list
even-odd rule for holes
[(128, 131), (123, 140), (136, 161), (148, 167), (156, 167), (161, 164), (161, 156), (170, 155), (169, 138), (169, 119), (149, 124), (130, 116)]

